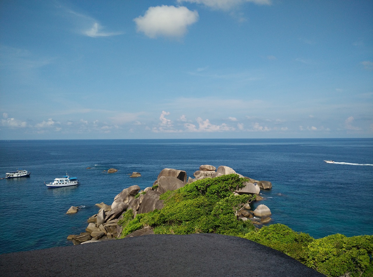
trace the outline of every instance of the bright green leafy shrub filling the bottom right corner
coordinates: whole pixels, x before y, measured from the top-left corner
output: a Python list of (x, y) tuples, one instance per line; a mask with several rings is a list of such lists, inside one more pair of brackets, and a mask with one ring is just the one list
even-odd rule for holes
[(334, 234), (314, 240), (308, 245), (306, 265), (326, 276), (345, 273), (360, 276), (372, 269), (373, 236), (346, 237)]

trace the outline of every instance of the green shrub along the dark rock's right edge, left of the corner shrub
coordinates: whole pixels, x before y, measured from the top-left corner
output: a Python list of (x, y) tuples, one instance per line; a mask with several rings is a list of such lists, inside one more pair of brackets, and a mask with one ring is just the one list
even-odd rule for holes
[(244, 238), (279, 250), (303, 263), (307, 260), (307, 246), (314, 240), (310, 235), (295, 232), (283, 224), (263, 226), (258, 231), (246, 234)]

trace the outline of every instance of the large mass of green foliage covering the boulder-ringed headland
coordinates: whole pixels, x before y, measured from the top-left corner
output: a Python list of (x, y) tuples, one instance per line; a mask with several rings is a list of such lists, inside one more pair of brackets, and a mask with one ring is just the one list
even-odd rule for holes
[[(120, 237), (149, 225), (156, 234), (218, 233), (244, 235), (254, 229), (250, 222), (238, 221), (236, 210), (254, 196), (234, 196), (233, 191), (244, 187), (244, 178), (237, 174), (206, 178), (186, 184), (176, 191), (160, 196), (161, 210), (139, 214), (123, 224)], [(137, 228), (137, 229), (136, 229)]]

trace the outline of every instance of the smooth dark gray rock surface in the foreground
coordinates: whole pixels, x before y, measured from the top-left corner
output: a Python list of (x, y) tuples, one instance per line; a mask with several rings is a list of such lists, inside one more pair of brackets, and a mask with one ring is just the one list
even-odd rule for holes
[(244, 238), (149, 235), (0, 255), (1, 276), (323, 276)]

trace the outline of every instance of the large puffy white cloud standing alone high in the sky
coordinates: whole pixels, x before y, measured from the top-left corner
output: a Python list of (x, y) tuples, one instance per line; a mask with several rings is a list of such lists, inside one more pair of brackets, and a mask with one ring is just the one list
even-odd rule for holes
[(187, 27), (198, 21), (198, 12), (186, 7), (156, 6), (149, 7), (144, 16), (134, 19), (137, 31), (154, 39), (159, 36), (182, 37)]

